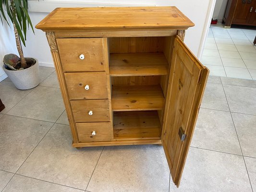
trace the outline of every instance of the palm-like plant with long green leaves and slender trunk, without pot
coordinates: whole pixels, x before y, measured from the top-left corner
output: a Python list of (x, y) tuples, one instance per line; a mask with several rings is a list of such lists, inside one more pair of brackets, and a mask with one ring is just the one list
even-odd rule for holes
[[(6, 8), (7, 15), (12, 21), (16, 46), (20, 55), (21, 68), (26, 68), (26, 60), (24, 58), (21, 41), (25, 46), (27, 27), (31, 26), (33, 32), (33, 25), (27, 12), (27, 0), (0, 0), (0, 19), (2, 18), (10, 26), (7, 15), (5, 15), (4, 7)], [(34, 32), (35, 33), (35, 32)]]

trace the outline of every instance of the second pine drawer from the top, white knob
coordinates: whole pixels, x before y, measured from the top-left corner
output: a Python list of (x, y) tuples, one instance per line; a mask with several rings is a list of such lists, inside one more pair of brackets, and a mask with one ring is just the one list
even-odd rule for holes
[(105, 72), (66, 72), (64, 76), (70, 100), (108, 98)]

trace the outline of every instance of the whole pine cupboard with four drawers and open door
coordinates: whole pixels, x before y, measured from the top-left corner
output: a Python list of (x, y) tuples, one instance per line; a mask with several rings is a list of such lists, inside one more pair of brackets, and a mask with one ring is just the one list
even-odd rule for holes
[(74, 147), (162, 144), (179, 186), (208, 70), (176, 7), (58, 8), (46, 32)]

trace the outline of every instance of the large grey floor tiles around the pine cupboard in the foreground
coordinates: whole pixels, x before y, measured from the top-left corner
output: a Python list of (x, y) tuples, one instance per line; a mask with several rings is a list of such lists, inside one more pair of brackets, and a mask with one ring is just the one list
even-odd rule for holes
[(0, 82), (0, 192), (256, 191), (256, 81), (209, 77), (177, 189), (162, 146), (73, 148), (54, 69), (40, 75)]

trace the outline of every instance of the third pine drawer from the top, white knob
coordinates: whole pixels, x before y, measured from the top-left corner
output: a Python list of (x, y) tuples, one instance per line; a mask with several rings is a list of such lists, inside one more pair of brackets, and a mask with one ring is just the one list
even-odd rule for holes
[(75, 122), (110, 121), (109, 100), (71, 101)]

